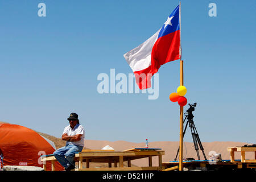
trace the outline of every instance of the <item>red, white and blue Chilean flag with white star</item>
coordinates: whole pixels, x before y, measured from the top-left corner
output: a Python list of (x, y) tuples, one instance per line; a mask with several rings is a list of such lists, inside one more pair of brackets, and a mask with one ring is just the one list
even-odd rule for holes
[(151, 38), (123, 56), (133, 70), (139, 88), (150, 88), (151, 77), (161, 65), (181, 59), (180, 6)]

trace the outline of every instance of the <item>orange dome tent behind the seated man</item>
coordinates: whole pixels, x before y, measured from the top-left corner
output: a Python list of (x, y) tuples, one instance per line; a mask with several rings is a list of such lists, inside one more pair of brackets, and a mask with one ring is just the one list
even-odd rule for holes
[[(55, 146), (54, 146), (55, 147)], [(53, 154), (55, 148), (34, 130), (20, 125), (0, 124), (0, 149), (3, 153), (4, 166), (43, 167), (41, 155)], [(46, 169), (51, 170), (51, 162), (46, 163)], [(55, 170), (63, 170), (59, 162)]]

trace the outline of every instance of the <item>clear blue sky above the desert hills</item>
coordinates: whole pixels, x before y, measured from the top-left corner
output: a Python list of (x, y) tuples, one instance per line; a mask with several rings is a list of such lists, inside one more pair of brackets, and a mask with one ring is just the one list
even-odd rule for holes
[[(46, 17), (38, 4), (46, 3)], [(210, 17), (209, 3), (217, 5)], [(0, 121), (60, 137), (79, 114), (85, 138), (179, 140), (179, 61), (159, 69), (159, 98), (99, 94), (100, 73), (133, 73), (123, 54), (150, 38), (179, 1), (0, 1)], [(182, 1), (189, 103), (202, 142), (256, 143), (256, 1)], [(188, 109), (185, 106), (185, 110)], [(191, 134), (184, 139), (191, 142)]]

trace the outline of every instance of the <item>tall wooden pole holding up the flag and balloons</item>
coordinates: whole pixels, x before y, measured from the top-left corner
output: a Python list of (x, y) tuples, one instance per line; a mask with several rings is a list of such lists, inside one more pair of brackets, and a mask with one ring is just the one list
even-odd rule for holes
[[(179, 7), (179, 22), (180, 22), (180, 85), (184, 85), (183, 77), (183, 60), (181, 60), (181, 2)], [(183, 106), (180, 106), (180, 156), (179, 156), (179, 171), (183, 171)]]

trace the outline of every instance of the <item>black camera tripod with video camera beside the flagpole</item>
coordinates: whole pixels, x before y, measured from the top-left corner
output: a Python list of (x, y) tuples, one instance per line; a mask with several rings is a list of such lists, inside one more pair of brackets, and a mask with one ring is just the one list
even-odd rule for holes
[[(189, 109), (187, 110), (187, 114), (185, 115), (185, 119), (183, 120), (183, 123), (185, 122), (185, 120), (187, 119), (187, 123), (186, 123), (186, 126), (185, 126), (185, 129), (184, 129), (184, 132), (183, 132), (183, 138), (184, 138), (184, 135), (185, 135), (185, 132), (186, 132), (186, 129), (188, 127), (188, 124), (189, 124), (189, 127), (191, 129), (191, 134), (192, 134), (192, 139), (193, 139), (193, 143), (194, 143), (194, 147), (195, 147), (195, 150), (196, 150), (196, 154), (197, 154), (197, 158), (198, 160), (200, 160), (200, 155), (199, 155), (199, 147), (200, 147), (200, 150), (203, 152), (203, 155), (204, 155), (204, 159), (207, 160), (205, 154), (204, 154), (204, 147), (201, 143), (201, 140), (199, 138), (199, 134), (197, 133), (197, 130), (196, 130), (196, 126), (195, 126), (195, 123), (193, 121), (193, 114), (192, 114), (192, 111), (195, 110), (195, 107), (196, 107), (196, 103), (194, 103), (193, 105), (191, 104), (188, 104), (190, 107)], [(179, 151), (180, 151), (180, 147), (178, 148), (177, 150), (177, 154), (176, 154), (176, 157), (174, 160), (177, 160), (177, 155), (179, 154)]]

